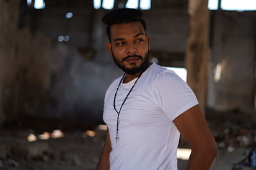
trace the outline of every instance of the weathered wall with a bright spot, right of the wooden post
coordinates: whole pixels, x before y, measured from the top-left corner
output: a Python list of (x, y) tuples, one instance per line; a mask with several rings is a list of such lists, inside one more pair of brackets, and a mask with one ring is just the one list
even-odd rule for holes
[(208, 106), (253, 108), (255, 12), (214, 11)]

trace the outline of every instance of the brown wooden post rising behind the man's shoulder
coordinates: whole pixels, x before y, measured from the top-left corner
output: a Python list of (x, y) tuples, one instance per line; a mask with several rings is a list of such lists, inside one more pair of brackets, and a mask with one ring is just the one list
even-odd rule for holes
[(209, 10), (207, 0), (189, 0), (189, 28), (186, 48), (188, 85), (204, 111), (209, 64)]

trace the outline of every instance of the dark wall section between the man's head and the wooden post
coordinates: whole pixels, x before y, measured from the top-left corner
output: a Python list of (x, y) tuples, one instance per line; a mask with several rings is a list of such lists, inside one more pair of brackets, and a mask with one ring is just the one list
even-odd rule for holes
[(188, 32), (186, 9), (144, 11), (150, 36), (150, 49), (163, 52), (185, 52)]

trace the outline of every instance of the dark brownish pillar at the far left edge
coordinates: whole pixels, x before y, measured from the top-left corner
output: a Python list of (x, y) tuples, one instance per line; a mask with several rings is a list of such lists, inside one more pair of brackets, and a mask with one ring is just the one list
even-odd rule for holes
[(6, 119), (16, 67), (19, 1), (0, 1), (0, 124)]

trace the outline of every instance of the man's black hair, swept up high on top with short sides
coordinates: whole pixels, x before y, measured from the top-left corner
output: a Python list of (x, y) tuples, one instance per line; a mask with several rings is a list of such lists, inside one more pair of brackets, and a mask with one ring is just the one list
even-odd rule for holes
[(106, 32), (108, 35), (108, 39), (111, 42), (110, 38), (110, 27), (113, 24), (127, 24), (129, 22), (140, 21), (143, 25), (144, 31), (147, 30), (147, 25), (145, 20), (143, 20), (143, 13), (141, 10), (131, 9), (131, 8), (122, 8), (110, 11), (104, 17), (102, 17), (102, 22), (106, 25)]

